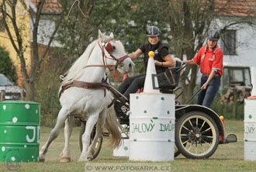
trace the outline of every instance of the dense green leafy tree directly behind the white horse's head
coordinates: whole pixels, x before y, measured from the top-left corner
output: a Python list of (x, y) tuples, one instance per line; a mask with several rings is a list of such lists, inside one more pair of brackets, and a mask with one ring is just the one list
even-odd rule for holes
[[(148, 2), (143, 4), (135, 0), (80, 1), (79, 4), (73, 5), (71, 12), (69, 11), (73, 2), (63, 0), (62, 3), (68, 4), (64, 13), (68, 14), (68, 17), (62, 22), (57, 34), (57, 40), (63, 45), (58, 52), (67, 57), (68, 67), (84, 52), (88, 43), (98, 38), (98, 29), (106, 33), (113, 32), (115, 39), (121, 40), (127, 53), (131, 53), (147, 41), (147, 26), (156, 25), (157, 21), (157, 26), (166, 26), (152, 8), (147, 10), (147, 7), (150, 7)], [(166, 31), (162, 31), (161, 37), (164, 38)], [(135, 73), (144, 72), (142, 60), (137, 61)]]

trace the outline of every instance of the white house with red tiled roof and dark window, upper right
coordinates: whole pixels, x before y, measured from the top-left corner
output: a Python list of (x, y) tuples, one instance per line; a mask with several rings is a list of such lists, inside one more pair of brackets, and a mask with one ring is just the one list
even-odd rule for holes
[[(244, 21), (247, 21), (245, 23)], [(213, 26), (220, 29), (223, 62), (256, 66), (256, 1), (236, 0), (219, 15)]]

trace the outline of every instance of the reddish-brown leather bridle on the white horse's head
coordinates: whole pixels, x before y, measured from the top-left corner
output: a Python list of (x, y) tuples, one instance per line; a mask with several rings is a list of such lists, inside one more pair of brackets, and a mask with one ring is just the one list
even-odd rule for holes
[[(117, 66), (118, 64), (120, 64), (123, 60), (125, 60), (128, 55), (124, 55), (123, 57), (119, 57), (119, 58), (116, 58), (114, 55), (112, 55), (112, 51), (114, 51), (110, 41), (114, 41), (113, 38), (109, 37), (109, 39), (105, 40), (104, 42), (102, 42), (101, 44), (98, 42), (98, 45), (99, 45), (99, 48), (102, 50), (102, 61), (103, 61), (103, 64), (92, 64), (92, 65), (87, 65), (85, 67), (108, 67), (109, 71), (111, 74), (115, 75), (116, 78), (118, 78), (118, 75), (117, 75)], [(106, 56), (106, 52), (109, 53), (109, 56), (110, 57), (107, 57)], [(116, 64), (107, 64), (107, 59), (110, 59), (110, 60), (116, 60)], [(84, 67), (84, 68), (85, 68)], [(114, 67), (114, 72), (112, 72), (111, 68), (110, 67)]]

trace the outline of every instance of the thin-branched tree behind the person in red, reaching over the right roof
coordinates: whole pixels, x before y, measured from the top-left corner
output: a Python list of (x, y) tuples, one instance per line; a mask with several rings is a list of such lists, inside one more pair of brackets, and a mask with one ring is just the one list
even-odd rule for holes
[[(250, 1), (242, 2), (245, 10), (241, 9), (240, 1), (202, 1), (202, 0), (168, 0), (155, 1), (156, 11), (161, 12), (163, 20), (170, 26), (171, 43), (174, 48), (175, 56), (183, 60), (184, 54), (188, 60), (195, 57), (195, 53), (200, 49), (206, 40), (206, 33), (209, 29), (215, 28), (225, 30), (230, 26), (237, 24), (249, 24), (254, 26), (250, 16), (255, 15), (255, 9), (250, 7)], [(234, 15), (234, 12), (240, 12), (244, 15), (243, 19), (230, 19), (224, 26), (218, 26), (216, 22), (223, 15)], [(191, 70), (190, 78), (188, 77)], [(195, 88), (195, 79), (197, 67), (187, 66), (182, 74), (181, 83), (185, 88), (187, 98), (190, 98)], [(187, 84), (186, 81), (189, 81)], [(183, 97), (184, 100), (185, 97)]]

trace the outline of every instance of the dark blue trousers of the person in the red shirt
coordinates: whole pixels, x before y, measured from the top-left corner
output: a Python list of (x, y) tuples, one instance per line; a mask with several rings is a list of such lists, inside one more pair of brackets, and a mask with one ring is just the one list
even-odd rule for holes
[[(201, 86), (202, 84), (205, 84), (208, 77), (201, 77)], [(210, 105), (213, 103), (213, 99), (215, 98), (217, 92), (220, 88), (220, 77), (214, 76), (211, 81), (209, 81), (209, 84), (207, 85), (205, 90), (202, 90), (199, 93), (199, 96), (197, 98), (197, 104), (198, 105), (204, 105), (209, 108)]]

